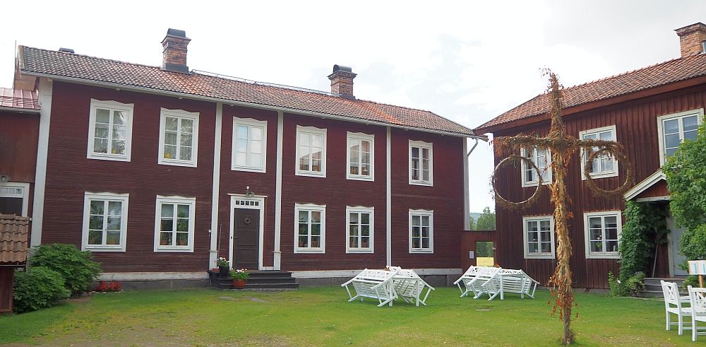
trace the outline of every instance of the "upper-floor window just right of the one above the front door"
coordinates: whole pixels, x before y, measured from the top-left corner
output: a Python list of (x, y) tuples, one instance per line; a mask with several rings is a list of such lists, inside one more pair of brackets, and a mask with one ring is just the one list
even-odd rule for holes
[(297, 125), (295, 175), (326, 177), (326, 129)]

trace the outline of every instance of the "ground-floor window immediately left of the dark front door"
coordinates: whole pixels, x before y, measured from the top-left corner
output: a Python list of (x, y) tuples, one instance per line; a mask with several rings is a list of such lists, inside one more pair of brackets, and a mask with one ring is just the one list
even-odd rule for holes
[(157, 195), (155, 252), (193, 252), (196, 198)]

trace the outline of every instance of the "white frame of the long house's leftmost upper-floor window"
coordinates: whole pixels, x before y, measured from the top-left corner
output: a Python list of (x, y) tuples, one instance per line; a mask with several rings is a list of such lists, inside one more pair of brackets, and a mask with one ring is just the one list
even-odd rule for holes
[[(95, 112), (96, 109), (102, 108), (107, 110), (119, 110), (127, 112), (126, 115), (126, 131), (125, 131), (125, 154), (112, 154), (112, 153), (95, 153), (93, 151), (95, 143)], [(124, 104), (122, 102), (117, 102), (113, 100), (90, 100), (90, 114), (88, 117), (88, 148), (86, 149), (86, 158), (88, 159), (99, 159), (99, 160), (116, 160), (116, 161), (130, 161), (130, 156), (132, 152), (132, 124), (133, 124), (133, 110), (135, 104)], [(111, 112), (112, 116), (112, 112)], [(111, 134), (112, 129), (109, 129), (108, 134)], [(110, 141), (110, 135), (108, 135), (109, 141), (108, 145), (111, 146), (112, 141)], [(109, 147), (110, 148), (110, 147)]]

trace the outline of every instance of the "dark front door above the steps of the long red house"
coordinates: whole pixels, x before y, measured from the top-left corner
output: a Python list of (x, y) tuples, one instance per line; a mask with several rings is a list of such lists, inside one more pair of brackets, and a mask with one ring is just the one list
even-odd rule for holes
[(260, 210), (235, 208), (233, 225), (234, 269), (258, 269)]

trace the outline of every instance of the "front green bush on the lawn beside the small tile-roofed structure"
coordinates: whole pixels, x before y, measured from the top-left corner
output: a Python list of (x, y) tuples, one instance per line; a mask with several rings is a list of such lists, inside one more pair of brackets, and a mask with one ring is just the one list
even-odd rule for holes
[(64, 288), (64, 278), (52, 269), (35, 266), (30, 271), (15, 271), (15, 312), (49, 307), (69, 295), (71, 292)]

